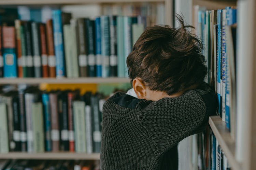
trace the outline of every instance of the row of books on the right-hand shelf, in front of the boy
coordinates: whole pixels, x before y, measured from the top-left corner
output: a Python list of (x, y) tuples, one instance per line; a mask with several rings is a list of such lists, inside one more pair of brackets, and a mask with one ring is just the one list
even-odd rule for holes
[(202, 39), (208, 66), (207, 82), (215, 89), (217, 113), (226, 122), (235, 138), (236, 133), (236, 22), (235, 7), (221, 10), (197, 10), (197, 35)]

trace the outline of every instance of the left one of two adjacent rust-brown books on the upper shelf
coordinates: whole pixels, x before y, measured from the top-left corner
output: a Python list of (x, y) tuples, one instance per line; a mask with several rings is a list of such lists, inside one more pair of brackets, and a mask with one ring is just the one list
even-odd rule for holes
[(46, 34), (45, 34), (45, 24), (41, 23), (40, 29), (40, 44), (41, 44), (41, 58), (42, 58), (42, 76), (44, 78), (48, 77), (48, 59), (47, 59), (47, 49), (46, 49)]

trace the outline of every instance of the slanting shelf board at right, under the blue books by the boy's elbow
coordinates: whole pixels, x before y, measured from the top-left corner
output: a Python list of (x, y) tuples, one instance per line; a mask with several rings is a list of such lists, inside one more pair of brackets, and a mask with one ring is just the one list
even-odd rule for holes
[(226, 128), (226, 123), (219, 116), (211, 116), (209, 118), (211, 129), (219, 142), (224, 154), (228, 159), (228, 163), (232, 170), (240, 170), (241, 164), (235, 158), (235, 141), (232, 139), (230, 132)]

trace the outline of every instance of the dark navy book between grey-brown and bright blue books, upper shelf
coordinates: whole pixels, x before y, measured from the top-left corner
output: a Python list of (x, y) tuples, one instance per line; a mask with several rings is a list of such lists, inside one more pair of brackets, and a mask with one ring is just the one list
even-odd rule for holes
[(86, 44), (88, 51), (88, 76), (95, 77), (96, 76), (96, 65), (95, 65), (95, 27), (94, 21), (85, 19), (85, 29), (86, 29)]

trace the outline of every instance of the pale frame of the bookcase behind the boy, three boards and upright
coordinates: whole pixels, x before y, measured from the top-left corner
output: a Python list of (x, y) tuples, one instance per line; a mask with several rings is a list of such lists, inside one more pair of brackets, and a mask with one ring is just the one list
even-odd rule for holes
[[(122, 4), (122, 3), (144, 3), (161, 2), (164, 3), (165, 24), (173, 25), (173, 1), (172, 0), (0, 0), (0, 5), (4, 6), (40, 6), (40, 5), (86, 5), (86, 4)], [(0, 78), (1, 85), (8, 84), (99, 84), (99, 83), (129, 83), (128, 78)], [(52, 159), (52, 160), (99, 160), (100, 154), (71, 153), (71, 152), (45, 152), (45, 153), (24, 153), (9, 152), (0, 154), (0, 159)]]

